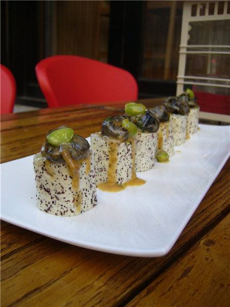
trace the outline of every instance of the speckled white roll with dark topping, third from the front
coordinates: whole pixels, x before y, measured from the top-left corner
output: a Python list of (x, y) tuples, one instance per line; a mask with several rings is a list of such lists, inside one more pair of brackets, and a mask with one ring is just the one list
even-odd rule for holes
[(147, 171), (155, 164), (156, 146), (158, 140), (157, 131), (159, 120), (149, 111), (143, 114), (131, 116), (131, 121), (137, 126), (136, 139), (136, 171)]

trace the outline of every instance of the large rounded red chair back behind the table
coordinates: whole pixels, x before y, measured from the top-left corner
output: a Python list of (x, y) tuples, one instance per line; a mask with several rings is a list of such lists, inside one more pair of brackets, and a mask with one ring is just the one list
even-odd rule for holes
[(52, 56), (35, 71), (49, 107), (137, 99), (137, 83), (129, 72), (93, 59)]

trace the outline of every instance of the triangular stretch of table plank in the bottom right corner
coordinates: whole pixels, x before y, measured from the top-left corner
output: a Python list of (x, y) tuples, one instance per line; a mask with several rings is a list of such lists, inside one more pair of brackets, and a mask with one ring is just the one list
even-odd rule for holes
[(126, 307), (230, 305), (230, 214)]

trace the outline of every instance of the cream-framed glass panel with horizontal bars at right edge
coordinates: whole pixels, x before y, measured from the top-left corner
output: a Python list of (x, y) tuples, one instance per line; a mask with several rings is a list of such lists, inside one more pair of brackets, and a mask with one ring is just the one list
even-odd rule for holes
[(201, 112), (229, 121), (230, 1), (187, 1), (182, 23), (177, 94), (190, 87)]

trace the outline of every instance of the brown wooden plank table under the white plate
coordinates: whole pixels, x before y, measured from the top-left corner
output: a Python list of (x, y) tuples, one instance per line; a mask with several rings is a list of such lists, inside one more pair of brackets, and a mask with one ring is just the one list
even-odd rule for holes
[[(145, 100), (147, 106), (160, 102)], [(122, 114), (123, 106), (2, 116), (1, 162), (38, 152), (47, 131), (61, 124), (88, 137), (104, 118)], [(157, 258), (84, 249), (1, 221), (1, 307), (227, 307), (229, 198), (228, 159), (172, 250)]]

